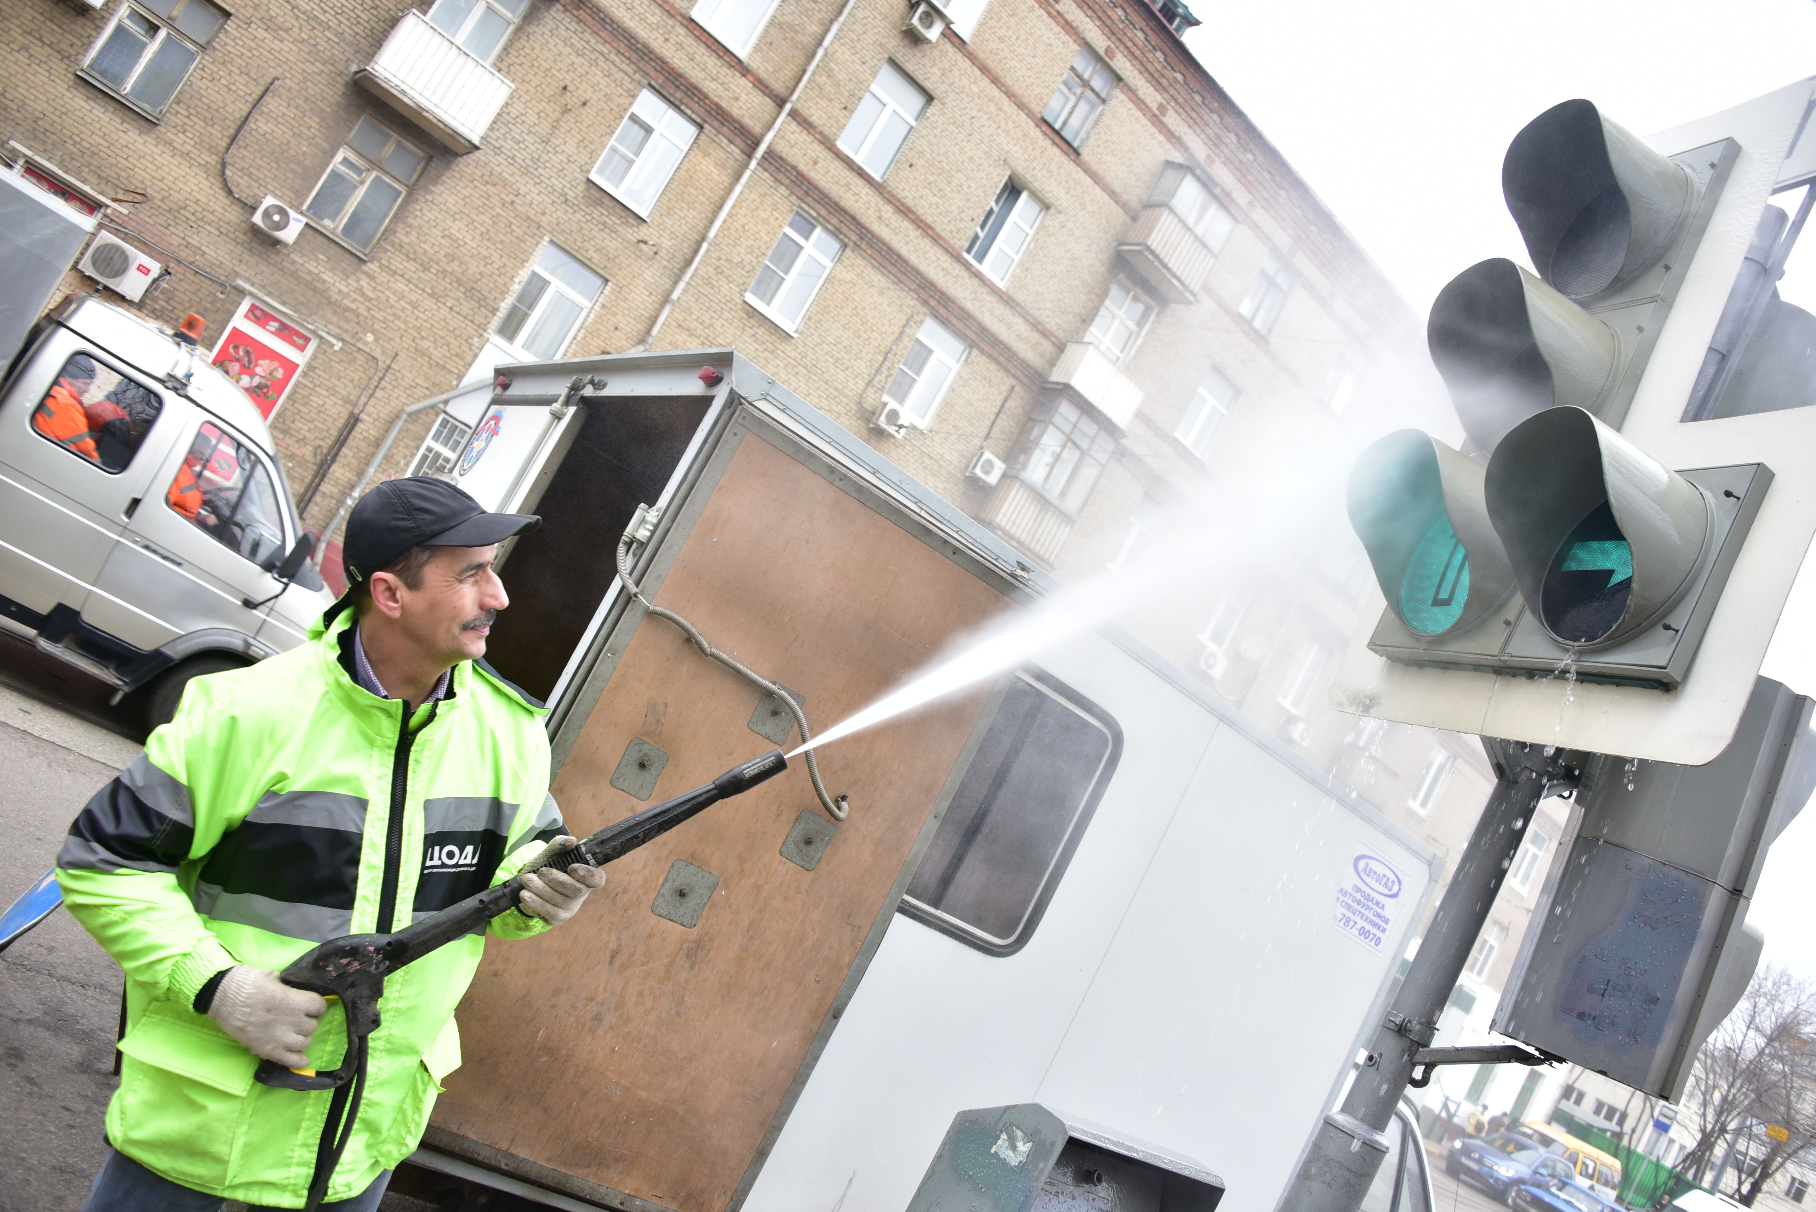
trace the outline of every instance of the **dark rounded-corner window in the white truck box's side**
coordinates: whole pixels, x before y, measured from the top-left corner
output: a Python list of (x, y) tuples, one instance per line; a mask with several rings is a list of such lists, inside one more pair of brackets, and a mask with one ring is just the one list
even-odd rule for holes
[(1039, 924), (1122, 744), (1100, 708), (1039, 671), (1010, 677), (986, 720), (903, 909), (1012, 954)]

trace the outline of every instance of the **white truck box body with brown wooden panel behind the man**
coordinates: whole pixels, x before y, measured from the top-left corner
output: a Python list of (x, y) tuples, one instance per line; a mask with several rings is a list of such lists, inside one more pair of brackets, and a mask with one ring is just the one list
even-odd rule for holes
[[(645, 595), (815, 729), (1059, 591), (728, 350), (501, 374), (456, 474), (545, 513), (508, 555), (494, 664), (552, 691), (576, 833), (792, 722), (617, 584), (639, 503), (663, 510)], [(794, 766), (614, 864), (577, 929), (489, 942), (421, 1165), (563, 1207), (899, 1212), (955, 1114), (1039, 1101), (1266, 1212), (1435, 880), (1415, 838), (1113, 630), (826, 746), (844, 822)]]

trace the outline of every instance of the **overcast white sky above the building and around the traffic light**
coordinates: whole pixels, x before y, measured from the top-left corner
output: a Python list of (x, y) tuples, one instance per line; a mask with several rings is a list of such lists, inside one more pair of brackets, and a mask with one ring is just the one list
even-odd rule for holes
[[(1195, 0), (1186, 45), (1424, 316), (1491, 256), (1529, 265), (1500, 198), (1507, 142), (1585, 96), (1647, 134), (1816, 74), (1816, 0)], [(1816, 245), (1816, 239), (1803, 239)], [(1816, 290), (1785, 296), (1811, 307)], [(1816, 457), (1816, 452), (1803, 452)], [(1816, 564), (1816, 561), (1812, 561)], [(1816, 570), (1765, 673), (1816, 695)], [(1767, 962), (1816, 980), (1816, 809), (1772, 847), (1751, 920)]]

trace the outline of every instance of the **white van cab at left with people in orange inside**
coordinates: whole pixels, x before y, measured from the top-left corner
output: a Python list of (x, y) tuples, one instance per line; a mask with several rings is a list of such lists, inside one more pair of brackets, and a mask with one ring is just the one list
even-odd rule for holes
[(185, 334), (96, 298), (0, 383), (0, 628), (171, 718), (189, 679), (303, 642), (309, 568), (271, 432)]

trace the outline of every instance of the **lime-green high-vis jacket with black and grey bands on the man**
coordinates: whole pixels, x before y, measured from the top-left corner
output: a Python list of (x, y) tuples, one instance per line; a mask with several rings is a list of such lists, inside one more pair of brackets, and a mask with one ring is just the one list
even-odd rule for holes
[[(127, 974), (107, 1139), (171, 1181), (251, 1205), (301, 1207), (331, 1096), (254, 1083), (258, 1060), (192, 1009), (202, 985), (234, 963), (281, 969), (318, 942), (403, 927), (508, 878), (563, 829), (539, 706), (461, 662), (452, 697), (407, 726), (401, 702), (341, 666), (349, 622), (189, 682), (56, 862), (64, 904)], [(518, 911), (490, 925), (503, 938), (545, 929)], [(483, 945), (470, 934), (385, 982), (365, 1105), (327, 1199), (414, 1152), (459, 1065), (454, 1005)], [(345, 1041), (331, 1002), (311, 1065), (334, 1069)]]

